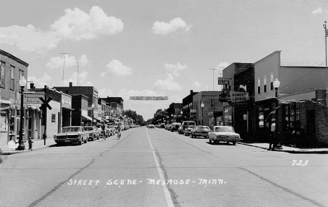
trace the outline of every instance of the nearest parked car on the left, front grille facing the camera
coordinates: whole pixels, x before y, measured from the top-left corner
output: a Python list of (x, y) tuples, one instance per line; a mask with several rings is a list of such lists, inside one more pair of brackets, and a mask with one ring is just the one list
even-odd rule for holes
[(57, 145), (64, 143), (78, 143), (82, 145), (82, 142), (88, 143), (89, 133), (84, 131), (83, 127), (62, 127), (62, 131), (59, 134), (55, 134), (53, 139)]

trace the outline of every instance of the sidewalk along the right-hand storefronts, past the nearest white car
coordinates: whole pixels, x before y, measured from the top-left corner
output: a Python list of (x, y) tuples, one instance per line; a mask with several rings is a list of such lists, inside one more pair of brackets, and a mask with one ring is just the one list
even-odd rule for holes
[[(261, 148), (264, 150), (268, 150), (268, 145), (269, 145), (268, 143), (242, 143), (242, 142), (237, 142), (237, 143), (241, 145), (252, 146), (254, 148)], [(282, 146), (282, 149), (280, 150), (275, 149), (272, 151), (288, 152), (293, 154), (328, 154), (328, 148), (299, 149), (299, 148)]]

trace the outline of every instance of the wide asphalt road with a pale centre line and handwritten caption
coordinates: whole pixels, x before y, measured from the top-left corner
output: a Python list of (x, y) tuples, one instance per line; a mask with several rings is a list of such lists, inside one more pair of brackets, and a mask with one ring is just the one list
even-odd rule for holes
[(328, 156), (165, 129), (9, 155), (0, 206), (328, 206)]

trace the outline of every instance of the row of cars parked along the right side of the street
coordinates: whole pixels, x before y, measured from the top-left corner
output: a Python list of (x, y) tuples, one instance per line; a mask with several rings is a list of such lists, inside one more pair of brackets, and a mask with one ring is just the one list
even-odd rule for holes
[(210, 129), (210, 127), (207, 126), (197, 126), (196, 122), (193, 121), (184, 121), (182, 123), (173, 122), (172, 124), (166, 124), (165, 129), (177, 131), (179, 134), (191, 136), (191, 138), (203, 136), (208, 138), (210, 143), (226, 141), (227, 143), (233, 143), (233, 145), (235, 145), (237, 141), (240, 141), (240, 135), (235, 133), (235, 129), (230, 126), (214, 126)]

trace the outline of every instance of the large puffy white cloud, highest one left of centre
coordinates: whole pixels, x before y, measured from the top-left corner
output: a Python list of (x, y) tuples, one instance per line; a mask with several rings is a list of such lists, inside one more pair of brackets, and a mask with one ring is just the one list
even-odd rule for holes
[(65, 15), (55, 21), (51, 29), (57, 36), (79, 41), (103, 34), (117, 34), (123, 30), (123, 22), (116, 17), (108, 17), (99, 6), (93, 6), (88, 14), (79, 8), (67, 8)]

